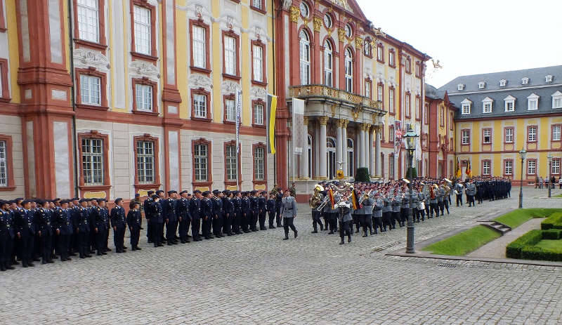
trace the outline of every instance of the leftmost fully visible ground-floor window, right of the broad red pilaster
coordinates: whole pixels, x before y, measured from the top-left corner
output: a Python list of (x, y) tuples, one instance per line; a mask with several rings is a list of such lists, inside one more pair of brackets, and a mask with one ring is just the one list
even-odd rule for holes
[(103, 140), (82, 139), (84, 185), (103, 185)]

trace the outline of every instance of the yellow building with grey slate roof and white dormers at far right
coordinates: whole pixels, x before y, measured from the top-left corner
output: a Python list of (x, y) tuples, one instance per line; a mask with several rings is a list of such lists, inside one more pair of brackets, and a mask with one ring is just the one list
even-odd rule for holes
[(548, 178), (549, 166), (552, 175), (561, 176), (562, 66), (457, 77), (437, 93), (457, 110), (454, 150), (463, 178), (470, 162), (473, 175), (519, 183), (522, 149), (528, 152), (525, 185)]

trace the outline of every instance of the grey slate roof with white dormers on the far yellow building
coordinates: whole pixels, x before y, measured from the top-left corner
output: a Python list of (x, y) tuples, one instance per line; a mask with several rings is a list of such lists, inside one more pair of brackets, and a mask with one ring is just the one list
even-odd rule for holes
[[(547, 75), (552, 76), (551, 82), (546, 82), (545, 76)], [(528, 84), (521, 84), (523, 77), (529, 78)], [(506, 86), (499, 86), (499, 81), (502, 79), (507, 81)], [(483, 89), (478, 88), (478, 83), (481, 81), (486, 83)], [(459, 91), (458, 84), (464, 84), (464, 90)], [(426, 93), (429, 93), (427, 89)], [(450, 102), (459, 109), (463, 100), (471, 100), (471, 114), (462, 115), (459, 110), (456, 119), (509, 118), (510, 115), (562, 113), (562, 109), (552, 108), (552, 95), (556, 91), (562, 92), (562, 65), (457, 77), (438, 88), (437, 91), (443, 93), (447, 91)], [(528, 110), (527, 97), (532, 93), (540, 97), (538, 110)], [(504, 99), (509, 95), (516, 98), (514, 112), (505, 112)], [(482, 100), (487, 97), (493, 100), (491, 113), (482, 112)]]

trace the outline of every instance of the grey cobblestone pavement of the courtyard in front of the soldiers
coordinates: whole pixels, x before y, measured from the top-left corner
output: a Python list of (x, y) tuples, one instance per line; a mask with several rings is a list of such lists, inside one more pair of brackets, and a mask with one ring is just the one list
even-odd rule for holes
[[(554, 193), (560, 193), (555, 190)], [(417, 224), (421, 241), (516, 208), (511, 199)], [(525, 190), (525, 207), (562, 199)], [(562, 270), (555, 267), (385, 256), (405, 227), (340, 246), (282, 230), (110, 252), (0, 274), (1, 324), (559, 324)], [(110, 239), (111, 240), (111, 239)], [(130, 246), (127, 244), (127, 246)]]

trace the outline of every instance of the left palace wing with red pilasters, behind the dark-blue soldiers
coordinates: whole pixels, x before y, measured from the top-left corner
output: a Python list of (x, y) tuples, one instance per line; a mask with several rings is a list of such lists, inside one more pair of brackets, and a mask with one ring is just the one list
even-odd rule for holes
[(272, 9), (265, 0), (0, 1), (0, 196), (272, 187)]

